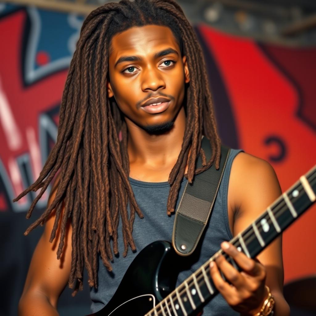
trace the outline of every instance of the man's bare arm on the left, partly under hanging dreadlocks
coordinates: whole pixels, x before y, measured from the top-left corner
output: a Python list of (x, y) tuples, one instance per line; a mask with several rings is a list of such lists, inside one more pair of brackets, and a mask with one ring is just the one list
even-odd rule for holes
[[(57, 178), (48, 199), (48, 205), (52, 203), (56, 195), (58, 181)], [(62, 216), (60, 216), (61, 218)], [(49, 242), (54, 221), (55, 210), (47, 220), (44, 232), (33, 253), (19, 302), (19, 316), (58, 315), (57, 301), (70, 275), (72, 228), (69, 222), (66, 228), (63, 253), (58, 260), (56, 252), (60, 238), (60, 220), (55, 240), (52, 243)]]

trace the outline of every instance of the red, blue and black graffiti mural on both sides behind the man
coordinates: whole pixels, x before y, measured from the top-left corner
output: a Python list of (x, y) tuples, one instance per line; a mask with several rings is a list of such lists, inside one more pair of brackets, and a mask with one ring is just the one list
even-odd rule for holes
[[(76, 14), (0, 3), (0, 215), (26, 221), (37, 192), (17, 203), (12, 199), (37, 179), (56, 141), (62, 92), (82, 21)], [(258, 43), (206, 25), (195, 30), (223, 143), (269, 161), (286, 190), (315, 164), (316, 50)], [(47, 197), (38, 202), (38, 212)], [(286, 281), (316, 273), (315, 222), (314, 207), (283, 235)], [(23, 232), (12, 234), (25, 238)], [(35, 244), (11, 285), (11, 307), (0, 314), (16, 314)]]

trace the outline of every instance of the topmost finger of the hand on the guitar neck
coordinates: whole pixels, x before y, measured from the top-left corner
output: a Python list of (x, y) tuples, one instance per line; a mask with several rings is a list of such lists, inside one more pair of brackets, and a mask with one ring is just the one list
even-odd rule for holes
[(221, 247), (229, 256), (231, 256), (239, 267), (252, 276), (260, 276), (262, 274), (262, 265), (248, 258), (243, 252), (238, 251), (236, 247), (227, 241), (222, 242)]

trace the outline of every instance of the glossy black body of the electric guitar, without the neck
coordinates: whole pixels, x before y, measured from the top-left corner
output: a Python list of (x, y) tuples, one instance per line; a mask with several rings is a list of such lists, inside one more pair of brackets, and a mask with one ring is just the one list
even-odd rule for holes
[(145, 315), (175, 289), (179, 257), (167, 241), (146, 246), (132, 261), (112, 299), (92, 315)]

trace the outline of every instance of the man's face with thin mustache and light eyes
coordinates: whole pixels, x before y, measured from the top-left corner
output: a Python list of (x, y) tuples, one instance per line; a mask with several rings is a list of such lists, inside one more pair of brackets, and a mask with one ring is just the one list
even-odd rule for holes
[[(110, 48), (108, 96), (114, 96), (127, 123), (150, 131), (173, 122), (190, 77), (170, 28), (132, 27), (114, 35)], [(148, 100), (161, 104), (144, 106)]]

